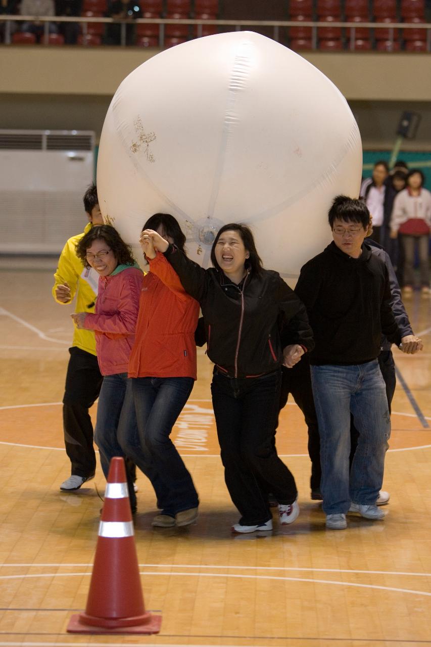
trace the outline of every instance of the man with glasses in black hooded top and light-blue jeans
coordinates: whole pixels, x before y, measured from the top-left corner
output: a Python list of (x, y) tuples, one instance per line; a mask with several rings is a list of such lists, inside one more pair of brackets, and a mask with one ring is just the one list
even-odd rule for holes
[[(339, 195), (329, 210), (333, 242), (301, 270), (296, 294), (315, 334), (311, 381), (320, 432), (326, 527), (347, 527), (346, 513), (377, 520), (390, 437), (386, 389), (377, 357), (382, 333), (401, 343), (390, 306), (388, 271), (363, 245), (370, 227), (364, 203)], [(350, 414), (359, 441), (349, 472)]]

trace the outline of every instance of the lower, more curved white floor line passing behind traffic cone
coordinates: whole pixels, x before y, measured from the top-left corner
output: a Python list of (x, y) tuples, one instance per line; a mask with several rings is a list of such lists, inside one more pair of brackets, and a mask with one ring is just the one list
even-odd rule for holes
[[(84, 577), (89, 576), (91, 573), (39, 573), (25, 575), (1, 575), (0, 580), (18, 580), (18, 579), (34, 579), (38, 577)], [(377, 589), (379, 591), (392, 591), (393, 593), (411, 593), (412, 595), (425, 595), (431, 597), (431, 592), (428, 591), (415, 591), (414, 589), (401, 589), (395, 586), (379, 586), (378, 584), (359, 584), (359, 582), (338, 582), (337, 580), (318, 580), (316, 578), (307, 577), (289, 577), (281, 575), (242, 575), (236, 573), (171, 573), (169, 571), (140, 571), (139, 575), (156, 575), (156, 576), (169, 576), (169, 577), (224, 577), (230, 579), (245, 579), (245, 580), (274, 580), (277, 582), (309, 582), (311, 584), (329, 584), (332, 586), (350, 586), (359, 589)]]

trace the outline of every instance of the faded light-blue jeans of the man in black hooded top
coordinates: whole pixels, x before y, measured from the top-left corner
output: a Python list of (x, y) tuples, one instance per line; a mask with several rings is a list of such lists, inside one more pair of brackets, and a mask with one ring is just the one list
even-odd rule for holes
[[(311, 366), (320, 433), (323, 509), (346, 514), (350, 503), (371, 505), (382, 487), (391, 422), (379, 362)], [(350, 414), (359, 432), (349, 472)]]

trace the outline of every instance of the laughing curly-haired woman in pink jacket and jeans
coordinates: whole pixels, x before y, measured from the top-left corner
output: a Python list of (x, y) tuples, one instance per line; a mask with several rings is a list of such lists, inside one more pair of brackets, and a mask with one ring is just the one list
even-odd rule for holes
[[(127, 424), (135, 420), (127, 367), (135, 342), (143, 274), (131, 249), (109, 225), (100, 225), (85, 234), (76, 246), (76, 254), (85, 267), (93, 267), (99, 274), (94, 314), (74, 313), (71, 316), (78, 328), (94, 330), (96, 334), (96, 353), (104, 380), (94, 441), (107, 477), (111, 458), (126, 457), (118, 439), (120, 419), (126, 419)], [(129, 474), (127, 483), (131, 509), (135, 512), (136, 494)]]

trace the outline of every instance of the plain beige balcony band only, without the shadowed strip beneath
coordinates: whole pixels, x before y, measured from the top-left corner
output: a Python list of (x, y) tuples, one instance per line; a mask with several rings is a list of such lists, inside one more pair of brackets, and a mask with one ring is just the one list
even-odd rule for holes
[[(157, 50), (2, 47), (0, 93), (115, 93)], [(304, 54), (348, 100), (431, 101), (431, 54)]]

